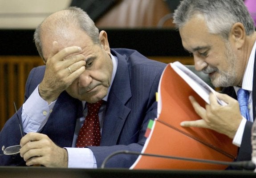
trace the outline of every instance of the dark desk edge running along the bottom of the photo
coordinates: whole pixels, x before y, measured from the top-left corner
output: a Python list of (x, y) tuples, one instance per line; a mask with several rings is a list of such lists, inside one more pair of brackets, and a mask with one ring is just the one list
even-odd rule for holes
[(128, 170), (64, 169), (0, 166), (1, 178), (255, 178), (253, 171), (240, 170)]

